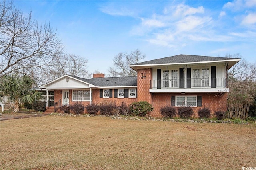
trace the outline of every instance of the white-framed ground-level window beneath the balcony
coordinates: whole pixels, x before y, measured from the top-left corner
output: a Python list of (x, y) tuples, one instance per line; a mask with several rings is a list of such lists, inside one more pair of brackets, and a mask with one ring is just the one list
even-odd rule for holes
[(197, 106), (197, 96), (176, 96), (176, 106)]

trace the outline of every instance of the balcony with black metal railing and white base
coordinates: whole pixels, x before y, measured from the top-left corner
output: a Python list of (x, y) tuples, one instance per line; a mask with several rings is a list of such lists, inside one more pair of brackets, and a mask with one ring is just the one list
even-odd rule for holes
[(229, 92), (226, 78), (150, 80), (150, 92)]

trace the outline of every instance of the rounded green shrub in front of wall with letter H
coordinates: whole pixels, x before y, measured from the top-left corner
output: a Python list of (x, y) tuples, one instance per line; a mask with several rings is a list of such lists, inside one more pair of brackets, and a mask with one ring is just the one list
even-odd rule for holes
[(146, 101), (134, 102), (130, 104), (130, 111), (136, 116), (145, 117), (153, 111), (153, 106)]

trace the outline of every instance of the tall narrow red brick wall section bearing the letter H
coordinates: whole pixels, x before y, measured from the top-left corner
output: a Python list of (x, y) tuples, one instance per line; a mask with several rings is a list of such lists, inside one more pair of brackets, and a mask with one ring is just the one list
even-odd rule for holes
[[(149, 92), (150, 80), (152, 80), (152, 69), (138, 69), (137, 74), (138, 102), (147, 101), (152, 104), (152, 94)], [(146, 78), (142, 79), (142, 74), (146, 76)]]

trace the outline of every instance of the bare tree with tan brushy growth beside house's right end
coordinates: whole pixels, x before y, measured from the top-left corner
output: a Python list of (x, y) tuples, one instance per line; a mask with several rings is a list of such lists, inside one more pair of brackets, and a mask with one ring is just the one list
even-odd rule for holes
[[(242, 58), (239, 53), (227, 54), (226, 57)], [(250, 104), (256, 97), (256, 63), (244, 59), (228, 71), (228, 117), (246, 119)]]

